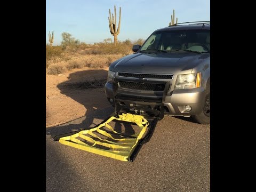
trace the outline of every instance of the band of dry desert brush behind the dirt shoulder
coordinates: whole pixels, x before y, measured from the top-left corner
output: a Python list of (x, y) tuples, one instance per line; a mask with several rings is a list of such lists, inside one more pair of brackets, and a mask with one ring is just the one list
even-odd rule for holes
[(75, 68), (103, 68), (125, 55), (133, 54), (130, 39), (117, 46), (114, 43), (85, 43), (76, 46), (66, 46), (63, 51), (61, 46), (46, 45), (46, 74), (57, 75)]

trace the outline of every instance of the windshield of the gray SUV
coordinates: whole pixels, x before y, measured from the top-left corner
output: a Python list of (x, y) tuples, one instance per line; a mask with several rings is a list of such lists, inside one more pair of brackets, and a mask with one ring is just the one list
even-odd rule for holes
[(140, 51), (210, 52), (210, 30), (168, 30), (153, 33)]

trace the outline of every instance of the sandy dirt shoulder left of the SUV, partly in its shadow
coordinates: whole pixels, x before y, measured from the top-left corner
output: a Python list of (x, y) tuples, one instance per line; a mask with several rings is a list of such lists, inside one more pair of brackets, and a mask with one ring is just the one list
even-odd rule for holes
[(46, 127), (85, 116), (89, 110), (109, 106), (102, 87), (107, 75), (108, 67), (84, 67), (60, 75), (46, 75)]

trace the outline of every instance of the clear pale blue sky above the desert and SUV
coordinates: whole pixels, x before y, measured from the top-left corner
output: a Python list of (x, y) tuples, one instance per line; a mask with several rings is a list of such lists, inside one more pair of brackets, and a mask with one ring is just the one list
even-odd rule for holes
[(210, 21), (210, 0), (46, 0), (46, 43), (54, 30), (53, 45), (60, 45), (61, 33), (68, 32), (79, 41), (93, 44), (112, 38), (108, 9), (121, 6), (119, 41), (146, 39), (154, 30), (167, 27), (175, 10), (178, 22)]

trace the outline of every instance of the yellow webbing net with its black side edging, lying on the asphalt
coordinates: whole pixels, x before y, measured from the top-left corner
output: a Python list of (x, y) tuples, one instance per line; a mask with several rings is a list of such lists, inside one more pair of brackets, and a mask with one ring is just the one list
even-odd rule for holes
[[(132, 135), (118, 133), (109, 125), (111, 121), (137, 125), (139, 132)], [(150, 139), (157, 121), (157, 118), (149, 119), (151, 125), (154, 122), (152, 127), (142, 115), (123, 113), (110, 116), (91, 129), (56, 135), (54, 140), (94, 154), (132, 162), (141, 145)]]

